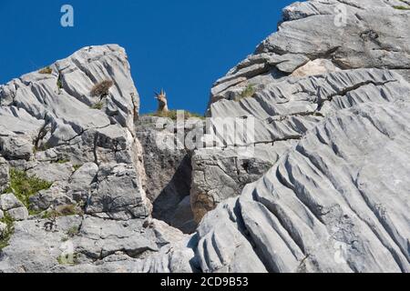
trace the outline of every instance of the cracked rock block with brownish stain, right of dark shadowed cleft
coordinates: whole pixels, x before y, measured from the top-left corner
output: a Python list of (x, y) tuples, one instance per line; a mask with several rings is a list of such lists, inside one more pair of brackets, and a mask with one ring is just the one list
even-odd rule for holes
[[(280, 144), (280, 143), (279, 143)], [(253, 156), (245, 156), (234, 148), (205, 148), (192, 156), (192, 188), (190, 201), (195, 221), (224, 200), (241, 195), (244, 186), (266, 173), (287, 146), (256, 146)]]

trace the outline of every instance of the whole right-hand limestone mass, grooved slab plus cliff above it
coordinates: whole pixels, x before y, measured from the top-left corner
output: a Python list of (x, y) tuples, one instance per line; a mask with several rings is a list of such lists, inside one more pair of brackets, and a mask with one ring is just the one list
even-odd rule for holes
[[(336, 27), (341, 4), (347, 23)], [(214, 85), (208, 115), (254, 116), (255, 144), (282, 153), (203, 218), (202, 271), (410, 270), (410, 13), (395, 5), (406, 4), (291, 5), (279, 32)], [(215, 207), (238, 194), (218, 151), (195, 155), (210, 165), (194, 179), (202, 200)]]

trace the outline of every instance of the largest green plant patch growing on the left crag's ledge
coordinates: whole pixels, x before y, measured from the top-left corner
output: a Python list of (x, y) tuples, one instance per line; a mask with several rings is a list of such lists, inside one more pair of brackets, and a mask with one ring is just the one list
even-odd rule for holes
[(29, 208), (30, 196), (41, 190), (49, 189), (53, 183), (41, 180), (36, 176), (27, 176), (26, 172), (10, 169), (10, 187), (5, 193), (14, 193), (15, 196)]

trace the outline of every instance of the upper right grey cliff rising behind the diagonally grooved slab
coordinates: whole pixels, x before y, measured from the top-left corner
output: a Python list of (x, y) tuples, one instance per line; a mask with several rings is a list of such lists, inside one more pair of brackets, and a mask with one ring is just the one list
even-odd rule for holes
[(248, 166), (250, 157), (238, 153), (230, 136), (222, 150), (196, 151), (191, 199), (197, 221), (224, 199), (240, 195), (328, 116), (408, 94), (410, 33), (404, 25), (410, 19), (397, 5), (406, 4), (329, 0), (283, 9), (279, 31), (211, 89), (207, 115), (216, 126), (226, 116), (255, 118), (248, 147), (258, 166), (243, 176), (242, 161)]

